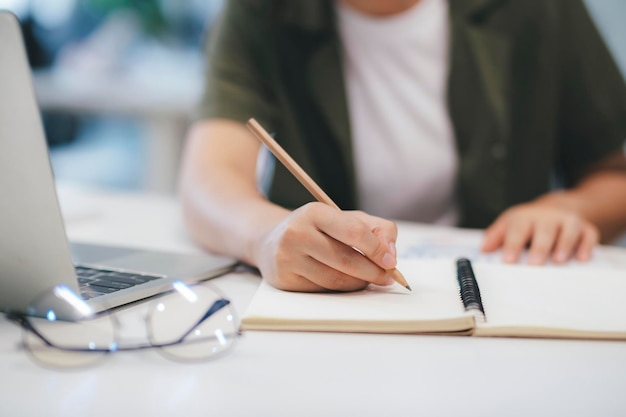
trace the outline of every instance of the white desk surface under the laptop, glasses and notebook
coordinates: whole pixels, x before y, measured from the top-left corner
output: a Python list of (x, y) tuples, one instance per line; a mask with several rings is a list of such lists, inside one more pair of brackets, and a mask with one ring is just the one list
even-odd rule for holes
[[(172, 199), (62, 199), (73, 239), (198, 250)], [(626, 260), (622, 250), (607, 252)], [(259, 278), (213, 282), (243, 312)], [(626, 343), (247, 332), (212, 362), (120, 352), (61, 372), (32, 363), (16, 348), (19, 335), (0, 319), (2, 416), (626, 415)]]

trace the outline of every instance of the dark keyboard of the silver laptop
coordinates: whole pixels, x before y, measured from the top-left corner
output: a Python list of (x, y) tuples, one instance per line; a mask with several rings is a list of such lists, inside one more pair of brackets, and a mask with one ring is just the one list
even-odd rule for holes
[(82, 265), (76, 266), (76, 275), (80, 294), (85, 300), (163, 278), (162, 275), (111, 271)]

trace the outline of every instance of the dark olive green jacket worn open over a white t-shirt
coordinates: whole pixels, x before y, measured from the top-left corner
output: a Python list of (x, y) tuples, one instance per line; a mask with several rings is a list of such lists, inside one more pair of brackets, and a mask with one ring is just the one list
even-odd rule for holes
[[(255, 117), (340, 207), (358, 208), (332, 0), (225, 4), (199, 117)], [(484, 227), (618, 151), (626, 87), (579, 0), (449, 4), (461, 225)], [(313, 200), (282, 166), (268, 196), (289, 208)]]

